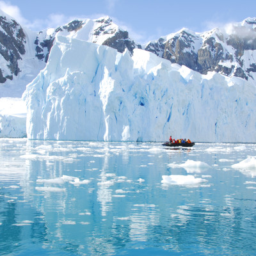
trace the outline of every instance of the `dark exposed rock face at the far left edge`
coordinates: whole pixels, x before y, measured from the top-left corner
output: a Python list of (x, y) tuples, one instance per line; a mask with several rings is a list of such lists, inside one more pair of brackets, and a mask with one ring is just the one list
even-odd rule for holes
[(0, 68), (0, 83), (4, 83), (20, 72), (18, 60), (25, 54), (26, 36), (21, 26), (6, 16), (0, 16), (0, 26), (0, 54), (8, 63), (8, 68)]

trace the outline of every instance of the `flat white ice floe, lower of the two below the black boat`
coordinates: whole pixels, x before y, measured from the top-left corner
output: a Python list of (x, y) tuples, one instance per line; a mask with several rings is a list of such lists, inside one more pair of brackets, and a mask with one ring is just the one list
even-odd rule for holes
[(195, 186), (207, 180), (195, 178), (193, 175), (163, 175), (161, 182), (164, 185)]

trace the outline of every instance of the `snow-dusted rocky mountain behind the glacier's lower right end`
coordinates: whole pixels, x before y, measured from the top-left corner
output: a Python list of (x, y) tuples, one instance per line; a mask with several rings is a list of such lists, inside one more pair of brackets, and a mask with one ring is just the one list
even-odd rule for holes
[(181, 29), (143, 46), (146, 51), (201, 74), (256, 79), (256, 19), (228, 24), (205, 33)]

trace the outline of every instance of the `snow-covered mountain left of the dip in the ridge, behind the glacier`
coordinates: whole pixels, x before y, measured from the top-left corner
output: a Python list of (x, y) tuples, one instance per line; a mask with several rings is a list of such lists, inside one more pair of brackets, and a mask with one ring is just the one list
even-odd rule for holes
[(118, 52), (128, 49), (132, 54), (134, 48), (141, 48), (109, 17), (76, 19), (64, 26), (36, 33), (22, 28), (0, 10), (0, 98), (21, 97), (26, 84), (45, 67), (58, 35), (108, 45)]

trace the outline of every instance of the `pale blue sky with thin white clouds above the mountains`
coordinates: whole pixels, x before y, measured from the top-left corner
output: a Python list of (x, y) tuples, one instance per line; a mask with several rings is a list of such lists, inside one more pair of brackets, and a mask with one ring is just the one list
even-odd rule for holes
[(140, 44), (182, 28), (203, 32), (256, 17), (255, 0), (0, 0), (0, 9), (33, 31), (108, 15)]

